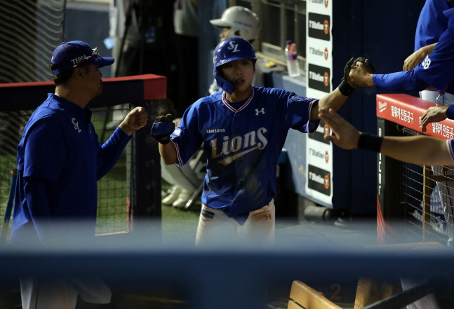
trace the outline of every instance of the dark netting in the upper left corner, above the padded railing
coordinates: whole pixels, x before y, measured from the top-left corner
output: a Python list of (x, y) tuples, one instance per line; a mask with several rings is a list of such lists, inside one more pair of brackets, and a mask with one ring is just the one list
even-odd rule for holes
[(63, 38), (65, 0), (0, 0), (0, 83), (51, 81), (49, 55)]

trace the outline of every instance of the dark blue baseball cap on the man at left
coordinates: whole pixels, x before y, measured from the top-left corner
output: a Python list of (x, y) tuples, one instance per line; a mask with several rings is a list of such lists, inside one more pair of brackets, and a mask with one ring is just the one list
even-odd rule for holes
[(53, 74), (61, 74), (76, 67), (95, 63), (105, 67), (114, 63), (112, 57), (100, 57), (98, 48), (91, 48), (83, 41), (63, 42), (55, 48), (51, 58), (51, 64), (56, 66)]

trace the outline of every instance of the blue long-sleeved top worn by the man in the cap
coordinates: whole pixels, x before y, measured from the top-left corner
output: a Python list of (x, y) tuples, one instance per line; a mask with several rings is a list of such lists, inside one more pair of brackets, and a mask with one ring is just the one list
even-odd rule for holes
[(97, 181), (130, 139), (117, 128), (101, 146), (90, 109), (48, 94), (29, 118), (18, 145), (12, 242), (34, 235), (45, 240), (51, 236), (46, 234), (47, 223), (68, 219), (85, 223), (78, 233), (93, 236)]

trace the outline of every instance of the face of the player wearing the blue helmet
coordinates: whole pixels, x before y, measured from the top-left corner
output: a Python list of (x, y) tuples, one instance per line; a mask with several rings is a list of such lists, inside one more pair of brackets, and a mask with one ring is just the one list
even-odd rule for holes
[(227, 81), (235, 85), (235, 92), (251, 88), (255, 73), (254, 62), (251, 59), (235, 60), (222, 64), (222, 74)]

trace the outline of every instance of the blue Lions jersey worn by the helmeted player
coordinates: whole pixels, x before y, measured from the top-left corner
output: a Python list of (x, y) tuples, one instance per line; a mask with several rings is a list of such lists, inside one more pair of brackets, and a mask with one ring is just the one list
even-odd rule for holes
[(229, 217), (241, 217), (276, 196), (276, 165), (290, 128), (314, 132), (316, 99), (275, 88), (253, 87), (243, 102), (216, 92), (192, 104), (171, 139), (178, 165), (203, 144), (207, 156), (202, 202)]

